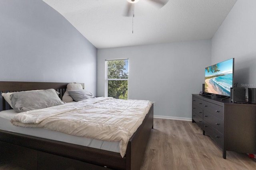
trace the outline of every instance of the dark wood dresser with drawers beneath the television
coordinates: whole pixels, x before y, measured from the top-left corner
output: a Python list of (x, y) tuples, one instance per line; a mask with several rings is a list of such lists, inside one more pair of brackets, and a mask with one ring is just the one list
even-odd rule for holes
[(192, 94), (192, 122), (223, 150), (256, 154), (256, 104), (236, 104), (230, 99)]

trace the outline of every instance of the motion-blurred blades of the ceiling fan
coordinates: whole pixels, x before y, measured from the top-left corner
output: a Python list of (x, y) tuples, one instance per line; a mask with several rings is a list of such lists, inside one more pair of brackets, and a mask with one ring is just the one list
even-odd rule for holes
[[(124, 16), (132, 16), (132, 10), (134, 7), (134, 4), (138, 2), (139, 0), (127, 0), (128, 4), (126, 6), (126, 11), (124, 13)], [(154, 4), (160, 8), (162, 8), (169, 0), (148, 0), (151, 2), (154, 2)]]

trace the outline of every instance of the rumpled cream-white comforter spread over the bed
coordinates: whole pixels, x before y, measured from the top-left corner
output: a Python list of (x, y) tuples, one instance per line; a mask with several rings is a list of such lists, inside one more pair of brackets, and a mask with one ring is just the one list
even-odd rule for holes
[(18, 113), (11, 120), (21, 127), (43, 127), (52, 131), (102, 141), (119, 141), (124, 157), (132, 134), (141, 125), (152, 102), (92, 98)]

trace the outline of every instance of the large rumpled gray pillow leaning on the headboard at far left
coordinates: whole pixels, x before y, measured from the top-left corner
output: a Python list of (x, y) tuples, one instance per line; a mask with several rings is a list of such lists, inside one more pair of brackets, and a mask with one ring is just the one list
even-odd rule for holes
[(64, 104), (54, 89), (17, 92), (10, 95), (13, 109), (24, 112)]

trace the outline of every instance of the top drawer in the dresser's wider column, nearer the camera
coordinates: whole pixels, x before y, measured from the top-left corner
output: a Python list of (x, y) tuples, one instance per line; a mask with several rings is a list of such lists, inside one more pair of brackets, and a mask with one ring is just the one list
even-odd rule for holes
[(224, 110), (222, 106), (219, 106), (210, 102), (206, 102), (206, 101), (204, 101), (203, 105), (204, 105), (203, 107), (204, 111), (218, 117), (221, 120), (224, 119)]

